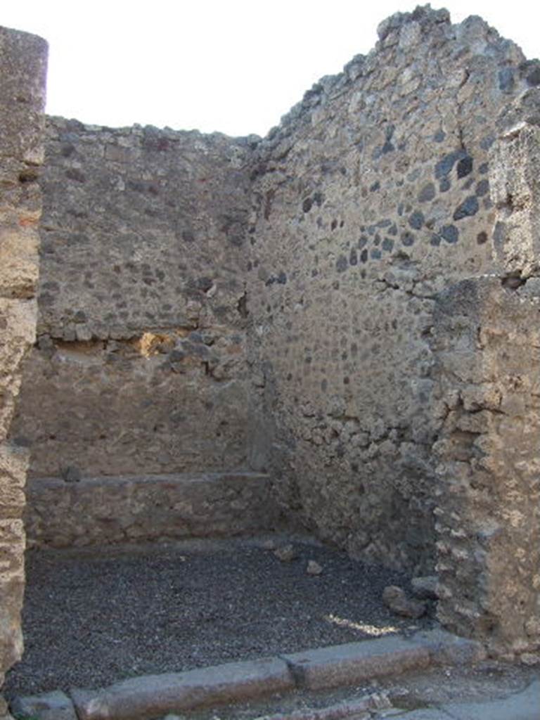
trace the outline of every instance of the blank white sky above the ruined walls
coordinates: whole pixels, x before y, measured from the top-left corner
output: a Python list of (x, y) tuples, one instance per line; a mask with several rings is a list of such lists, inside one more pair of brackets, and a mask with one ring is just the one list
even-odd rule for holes
[[(412, 0), (0, 0), (0, 24), (50, 43), (50, 114), (87, 123), (265, 135)], [(434, 7), (439, 7), (433, 2)], [(540, 56), (534, 0), (449, 0)], [(539, 9), (531, 9), (537, 6)]]

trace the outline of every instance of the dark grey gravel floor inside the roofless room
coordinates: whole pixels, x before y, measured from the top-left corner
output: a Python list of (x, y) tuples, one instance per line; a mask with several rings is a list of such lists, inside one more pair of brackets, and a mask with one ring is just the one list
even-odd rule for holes
[[(400, 619), (382, 605), (384, 586), (407, 587), (407, 576), (307, 539), (280, 562), (266, 539), (28, 553), (24, 660), (6, 696), (433, 626), (429, 615)], [(307, 575), (308, 559), (322, 575)]]

